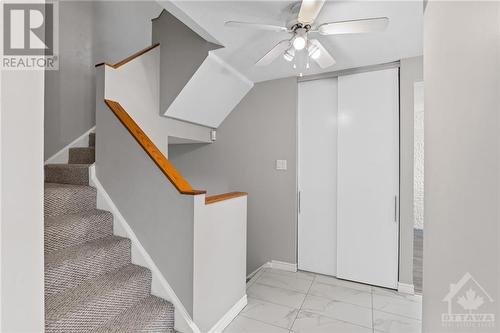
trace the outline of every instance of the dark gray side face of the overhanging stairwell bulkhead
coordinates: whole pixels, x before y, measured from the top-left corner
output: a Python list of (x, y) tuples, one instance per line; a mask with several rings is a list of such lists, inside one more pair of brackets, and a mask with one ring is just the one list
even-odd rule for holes
[(220, 48), (204, 40), (163, 10), (153, 20), (153, 43), (160, 43), (160, 112), (163, 114), (198, 70), (208, 51)]

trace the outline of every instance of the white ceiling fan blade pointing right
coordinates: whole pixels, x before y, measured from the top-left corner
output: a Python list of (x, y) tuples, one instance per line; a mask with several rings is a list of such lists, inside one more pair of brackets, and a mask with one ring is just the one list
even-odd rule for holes
[(384, 31), (389, 24), (387, 17), (376, 17), (352, 21), (324, 23), (318, 27), (322, 35), (357, 34), (363, 32)]

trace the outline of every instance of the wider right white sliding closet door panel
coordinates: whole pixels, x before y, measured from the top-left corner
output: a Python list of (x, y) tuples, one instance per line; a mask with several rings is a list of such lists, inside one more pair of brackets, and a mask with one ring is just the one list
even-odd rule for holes
[(396, 288), (398, 70), (339, 77), (337, 276)]

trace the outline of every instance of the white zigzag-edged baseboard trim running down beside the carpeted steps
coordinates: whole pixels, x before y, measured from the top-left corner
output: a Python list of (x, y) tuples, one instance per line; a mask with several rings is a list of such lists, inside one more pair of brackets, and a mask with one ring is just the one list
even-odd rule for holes
[(151, 273), (153, 275), (151, 293), (153, 295), (165, 298), (174, 305), (175, 329), (184, 333), (201, 333), (200, 329), (195, 324), (186, 308), (175, 294), (172, 287), (170, 287), (163, 274), (155, 265), (153, 259), (144, 249), (132, 228), (130, 228), (123, 215), (113, 203), (113, 200), (111, 200), (110, 196), (97, 179), (95, 165), (92, 165), (90, 167), (89, 172), (91, 185), (96, 187), (97, 189), (97, 207), (100, 209), (108, 210), (113, 214), (113, 229), (116, 235), (127, 237), (131, 240), (132, 262), (134, 264), (147, 267), (151, 270)]

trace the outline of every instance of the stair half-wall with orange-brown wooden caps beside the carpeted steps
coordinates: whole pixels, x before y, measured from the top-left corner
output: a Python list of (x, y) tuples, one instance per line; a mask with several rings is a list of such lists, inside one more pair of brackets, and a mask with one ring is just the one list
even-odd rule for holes
[(247, 196), (206, 197), (167, 160), (172, 119), (158, 113), (159, 52), (97, 67), (96, 176), (185, 319), (218, 332), (246, 305)]

